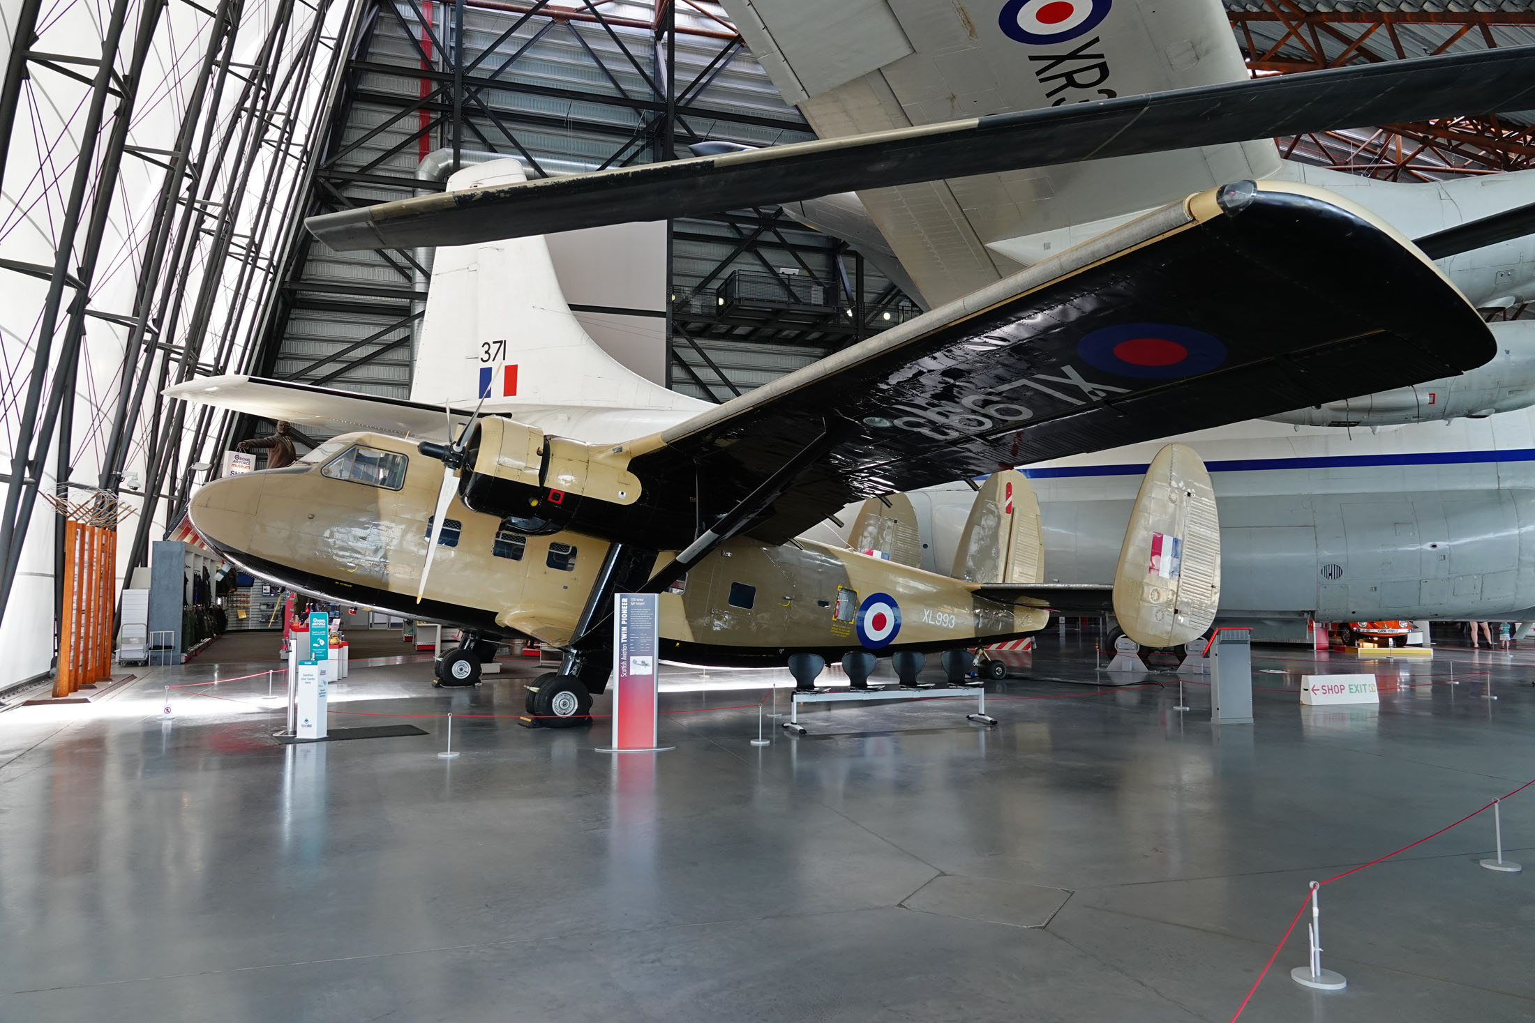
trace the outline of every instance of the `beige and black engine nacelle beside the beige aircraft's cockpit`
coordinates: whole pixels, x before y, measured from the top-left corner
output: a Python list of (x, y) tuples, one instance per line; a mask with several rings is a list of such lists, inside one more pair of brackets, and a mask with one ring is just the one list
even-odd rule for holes
[(488, 416), (470, 437), (459, 498), (510, 529), (545, 535), (579, 528), (583, 518), (611, 521), (640, 498), (640, 480), (623, 448), (551, 437)]

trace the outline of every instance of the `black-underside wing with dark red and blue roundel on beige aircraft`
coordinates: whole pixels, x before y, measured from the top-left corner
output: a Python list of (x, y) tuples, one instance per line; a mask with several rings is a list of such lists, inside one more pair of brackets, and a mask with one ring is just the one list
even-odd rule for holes
[[(783, 543), (840, 508), (1471, 370), (1486, 324), (1409, 241), (1320, 189), (1190, 198), (629, 445), (659, 531)], [(729, 514), (728, 514), (729, 512)], [(734, 515), (734, 518), (732, 518)], [(674, 521), (683, 518), (682, 523)], [(694, 535), (694, 534), (689, 534)]]

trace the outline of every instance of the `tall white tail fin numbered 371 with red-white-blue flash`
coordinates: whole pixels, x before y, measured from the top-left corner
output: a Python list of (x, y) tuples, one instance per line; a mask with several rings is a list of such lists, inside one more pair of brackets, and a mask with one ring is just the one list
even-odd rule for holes
[[(496, 160), (459, 170), (448, 178), (448, 190), (525, 178), (516, 160)], [(543, 236), (436, 252), (411, 400), (441, 406), (479, 397), (497, 411), (703, 405), (632, 373), (597, 347), (565, 301)]]

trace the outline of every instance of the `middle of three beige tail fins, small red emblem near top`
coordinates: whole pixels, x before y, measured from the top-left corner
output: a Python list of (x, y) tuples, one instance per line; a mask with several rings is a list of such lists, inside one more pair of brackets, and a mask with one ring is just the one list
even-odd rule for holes
[(1018, 469), (987, 477), (970, 505), (950, 575), (969, 583), (1042, 583), (1039, 498)]

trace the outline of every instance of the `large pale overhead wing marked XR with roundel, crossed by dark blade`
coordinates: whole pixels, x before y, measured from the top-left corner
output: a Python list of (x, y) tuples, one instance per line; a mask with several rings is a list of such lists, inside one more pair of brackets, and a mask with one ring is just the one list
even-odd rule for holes
[[(844, 18), (824, 0), (723, 5), (820, 138), (1249, 78), (1220, 0), (838, 0)], [(942, 304), (1108, 218), (1279, 169), (1262, 138), (973, 176), (955, 163), (944, 179), (860, 198), (921, 296)]]

